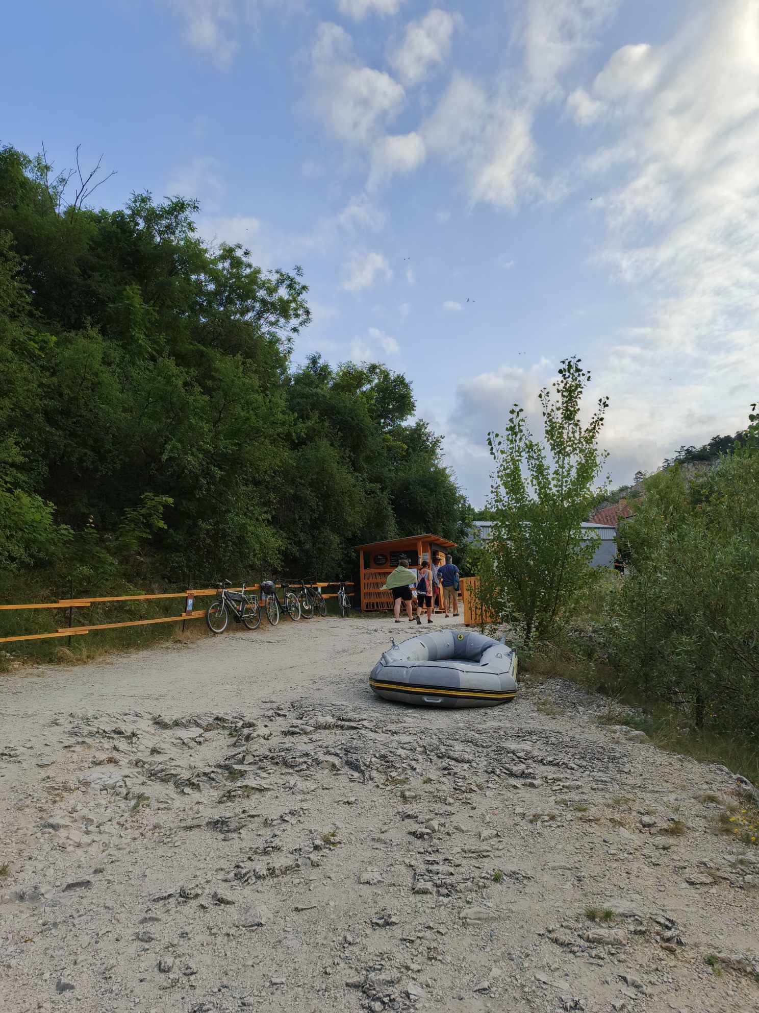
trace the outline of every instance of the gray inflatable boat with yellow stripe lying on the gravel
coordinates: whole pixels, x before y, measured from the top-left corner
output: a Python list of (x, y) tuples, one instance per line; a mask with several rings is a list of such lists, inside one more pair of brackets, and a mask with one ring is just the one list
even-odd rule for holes
[(430, 707), (495, 707), (516, 696), (516, 653), (481, 633), (435, 630), (394, 643), (369, 676), (377, 696)]

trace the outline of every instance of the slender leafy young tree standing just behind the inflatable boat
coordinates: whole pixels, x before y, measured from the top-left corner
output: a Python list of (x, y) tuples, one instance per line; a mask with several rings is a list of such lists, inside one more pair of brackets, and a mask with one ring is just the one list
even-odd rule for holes
[(518, 405), (503, 433), (488, 435), (496, 465), (494, 526), (479, 563), (479, 595), (487, 613), (523, 625), (528, 641), (545, 636), (595, 578), (597, 540), (585, 537), (581, 525), (606, 459), (598, 438), (607, 400), (583, 425), (589, 381), (580, 360), (562, 361), (553, 389), (538, 395), (544, 442), (532, 436)]

